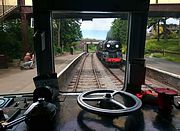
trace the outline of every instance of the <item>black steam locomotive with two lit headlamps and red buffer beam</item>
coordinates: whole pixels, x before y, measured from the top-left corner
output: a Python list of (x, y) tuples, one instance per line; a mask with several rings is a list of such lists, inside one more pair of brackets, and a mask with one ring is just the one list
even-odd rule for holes
[(122, 65), (122, 45), (119, 41), (100, 41), (97, 45), (96, 54), (105, 66), (120, 67)]

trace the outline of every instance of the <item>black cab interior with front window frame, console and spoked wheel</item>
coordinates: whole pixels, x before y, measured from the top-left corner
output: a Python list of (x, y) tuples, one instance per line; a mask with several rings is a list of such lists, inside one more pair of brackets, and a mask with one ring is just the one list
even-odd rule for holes
[[(179, 130), (180, 112), (169, 113), (142, 102), (135, 94), (145, 81), (144, 48), (149, 0), (33, 0), (37, 76), (31, 106), (7, 130), (148, 131)], [(128, 45), (122, 90), (64, 92), (58, 84), (52, 44), (53, 18), (128, 16)], [(114, 101), (115, 95), (120, 102)], [(149, 98), (147, 98), (149, 99)], [(152, 99), (152, 98), (150, 98)], [(97, 107), (98, 105), (98, 107)], [(167, 115), (168, 114), (168, 115)], [(15, 124), (14, 124), (15, 123)], [(8, 129), (7, 127), (11, 127)]]

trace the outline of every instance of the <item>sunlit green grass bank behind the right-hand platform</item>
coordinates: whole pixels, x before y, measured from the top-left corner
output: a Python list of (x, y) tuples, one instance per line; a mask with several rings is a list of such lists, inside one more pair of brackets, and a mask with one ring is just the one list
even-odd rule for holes
[(180, 55), (170, 54), (170, 53), (149, 53), (150, 50), (165, 50), (171, 52), (180, 52), (180, 46), (178, 45), (178, 39), (150, 39), (146, 41), (145, 52), (146, 56), (153, 56), (157, 58), (163, 58), (173, 62), (180, 62)]

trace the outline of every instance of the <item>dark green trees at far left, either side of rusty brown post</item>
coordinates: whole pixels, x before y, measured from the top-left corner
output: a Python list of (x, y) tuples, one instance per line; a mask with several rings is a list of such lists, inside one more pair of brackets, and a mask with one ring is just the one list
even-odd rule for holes
[[(0, 54), (9, 59), (18, 59), (23, 55), (22, 33), (20, 20), (8, 20), (0, 24)], [(30, 49), (33, 48), (33, 30), (29, 28)], [(32, 51), (32, 50), (31, 50)]]

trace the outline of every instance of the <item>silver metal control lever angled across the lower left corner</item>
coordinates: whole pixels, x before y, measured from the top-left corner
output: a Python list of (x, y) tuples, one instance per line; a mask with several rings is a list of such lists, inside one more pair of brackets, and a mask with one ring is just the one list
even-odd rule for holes
[(21, 122), (23, 122), (26, 118), (26, 115), (29, 114), (33, 109), (34, 107), (36, 107), (38, 104), (40, 104), (42, 101), (44, 101), (44, 98), (40, 98), (38, 99), (37, 102), (33, 103), (23, 114), (23, 116), (11, 121), (11, 122), (3, 122), (3, 123), (0, 123), (0, 131), (1, 130), (5, 130), (5, 129), (8, 129), (8, 128), (11, 128)]

